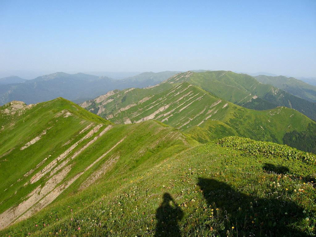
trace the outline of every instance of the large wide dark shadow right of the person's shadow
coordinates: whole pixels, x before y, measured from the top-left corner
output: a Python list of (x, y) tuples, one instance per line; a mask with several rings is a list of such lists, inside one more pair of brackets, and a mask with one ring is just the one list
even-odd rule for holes
[(292, 228), (304, 218), (303, 209), (294, 202), (248, 196), (215, 179), (199, 178), (198, 185), (214, 215), (220, 212), (217, 222), (224, 228), (216, 230), (220, 236), (226, 236), (227, 230), (234, 236), (237, 231), (238, 236), (308, 236)]

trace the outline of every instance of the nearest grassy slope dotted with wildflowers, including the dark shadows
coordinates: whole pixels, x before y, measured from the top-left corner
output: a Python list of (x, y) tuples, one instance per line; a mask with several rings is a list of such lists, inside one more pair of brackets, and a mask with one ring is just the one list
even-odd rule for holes
[[(280, 174), (274, 167), (286, 171)], [(315, 232), (316, 193), (311, 180), (316, 170), (300, 160), (251, 156), (208, 143), (177, 152), (157, 165), (143, 164), (126, 173), (118, 168), (1, 234), (308, 236)]]

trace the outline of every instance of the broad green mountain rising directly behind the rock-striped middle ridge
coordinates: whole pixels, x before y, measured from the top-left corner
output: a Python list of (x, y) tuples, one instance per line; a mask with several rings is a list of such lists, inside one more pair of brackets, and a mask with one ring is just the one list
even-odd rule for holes
[(316, 121), (316, 103), (295, 97), (286, 91), (258, 82), (252, 76), (231, 71), (185, 72), (166, 83), (189, 82), (229, 102), (255, 110), (286, 106)]

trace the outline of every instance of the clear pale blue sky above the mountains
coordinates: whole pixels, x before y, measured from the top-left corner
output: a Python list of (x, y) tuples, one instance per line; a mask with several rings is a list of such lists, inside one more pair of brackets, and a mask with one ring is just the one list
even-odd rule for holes
[(316, 77), (316, 1), (0, 0), (0, 72)]

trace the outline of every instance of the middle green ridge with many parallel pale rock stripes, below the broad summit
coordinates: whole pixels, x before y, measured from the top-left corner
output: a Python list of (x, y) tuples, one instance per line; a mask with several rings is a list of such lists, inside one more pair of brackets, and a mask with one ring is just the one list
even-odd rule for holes
[[(174, 87), (167, 90), (170, 84)], [(155, 119), (202, 143), (225, 136), (242, 136), (316, 152), (315, 122), (296, 110), (286, 107), (250, 110), (188, 82), (125, 90), (104, 100), (92, 100), (86, 108), (116, 124)], [(304, 138), (295, 136), (296, 133)]]

